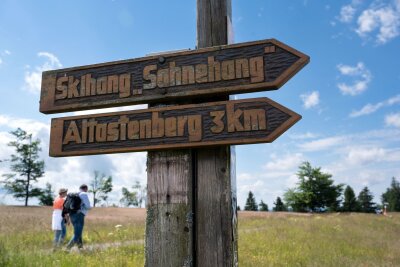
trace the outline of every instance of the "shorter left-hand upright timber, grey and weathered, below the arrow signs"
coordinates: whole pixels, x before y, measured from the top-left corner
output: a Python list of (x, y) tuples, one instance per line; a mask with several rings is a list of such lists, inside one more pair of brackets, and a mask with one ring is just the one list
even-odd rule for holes
[(188, 150), (148, 153), (146, 267), (193, 266), (191, 170)]

